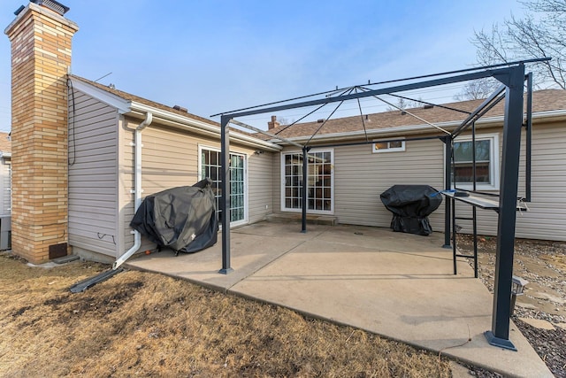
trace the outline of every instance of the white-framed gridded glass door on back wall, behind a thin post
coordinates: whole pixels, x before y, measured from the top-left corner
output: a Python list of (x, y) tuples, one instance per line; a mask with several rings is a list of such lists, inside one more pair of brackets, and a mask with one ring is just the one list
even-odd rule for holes
[[(287, 211), (302, 209), (302, 152), (282, 154), (282, 204)], [(333, 151), (309, 152), (307, 209), (333, 212)]]

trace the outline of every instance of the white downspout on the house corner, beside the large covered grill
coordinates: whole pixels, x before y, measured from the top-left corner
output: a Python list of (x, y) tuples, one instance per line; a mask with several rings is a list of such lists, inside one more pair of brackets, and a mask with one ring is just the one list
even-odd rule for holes
[[(142, 204), (142, 130), (148, 127), (153, 120), (153, 114), (147, 112), (145, 114), (145, 120), (140, 124), (140, 126), (135, 128), (135, 139), (134, 139), (134, 214), (138, 211), (140, 204)], [(116, 270), (119, 266), (126, 262), (126, 259), (130, 258), (136, 251), (142, 246), (142, 235), (137, 230), (134, 233), (134, 245), (132, 248), (127, 250), (122, 256), (114, 261), (112, 269)]]

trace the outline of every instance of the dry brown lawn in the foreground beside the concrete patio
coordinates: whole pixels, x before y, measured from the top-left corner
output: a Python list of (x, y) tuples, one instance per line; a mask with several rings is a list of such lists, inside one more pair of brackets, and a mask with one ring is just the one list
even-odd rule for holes
[(449, 377), (447, 359), (402, 343), (108, 266), (27, 266), (0, 254), (0, 376)]

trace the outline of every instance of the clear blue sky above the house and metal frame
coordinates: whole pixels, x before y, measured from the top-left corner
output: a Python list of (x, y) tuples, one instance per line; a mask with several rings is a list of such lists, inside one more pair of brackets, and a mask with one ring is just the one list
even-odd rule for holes
[[(476, 60), (474, 29), (523, 14), (516, 0), (60, 2), (80, 27), (73, 73), (90, 80), (111, 73), (99, 82), (203, 117), (368, 80), (466, 68)], [(3, 27), (21, 4), (27, 0), (2, 0)], [(3, 131), (11, 126), (10, 64), (4, 35)], [(452, 101), (446, 93), (418, 96)]]

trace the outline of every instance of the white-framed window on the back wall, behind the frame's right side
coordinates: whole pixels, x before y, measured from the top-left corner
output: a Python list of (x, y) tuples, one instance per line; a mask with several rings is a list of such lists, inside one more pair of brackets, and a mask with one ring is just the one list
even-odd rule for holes
[[(476, 188), (499, 189), (498, 135), (476, 136)], [(456, 138), (454, 142), (454, 170), (452, 182), (463, 189), (473, 188), (473, 150), (471, 136)]]

